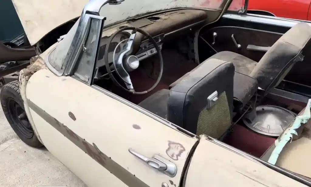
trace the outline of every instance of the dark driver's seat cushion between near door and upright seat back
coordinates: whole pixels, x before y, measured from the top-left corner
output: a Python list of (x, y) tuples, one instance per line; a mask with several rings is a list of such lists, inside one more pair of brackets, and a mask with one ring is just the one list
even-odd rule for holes
[(169, 90), (162, 89), (140, 102), (138, 106), (166, 119), (168, 98)]

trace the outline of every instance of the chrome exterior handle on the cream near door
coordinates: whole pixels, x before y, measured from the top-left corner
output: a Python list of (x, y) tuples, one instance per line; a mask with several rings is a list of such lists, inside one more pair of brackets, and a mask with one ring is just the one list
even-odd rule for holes
[(149, 166), (159, 170), (160, 172), (164, 173), (165, 175), (168, 175), (170, 177), (174, 177), (177, 173), (177, 167), (174, 163), (166, 160), (165, 158), (161, 157), (160, 155), (153, 155), (153, 158), (145, 157), (142, 154), (137, 153), (133, 149), (128, 149), (128, 151), (133, 154), (134, 156), (140, 158), (142, 161), (144, 161)]

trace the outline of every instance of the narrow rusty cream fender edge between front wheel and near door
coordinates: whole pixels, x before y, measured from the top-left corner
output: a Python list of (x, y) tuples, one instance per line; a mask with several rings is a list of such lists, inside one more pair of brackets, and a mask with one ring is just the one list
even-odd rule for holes
[(24, 101), (24, 108), (25, 108), (25, 112), (27, 114), (28, 120), (31, 124), (31, 127), (33, 128), (35, 135), (37, 136), (38, 140), (43, 144), (39, 133), (35, 127), (35, 123), (32, 119), (32, 116), (30, 114), (30, 109), (29, 109), (29, 104), (27, 101), (27, 97), (26, 97), (26, 86), (28, 83), (29, 78), (38, 70), (42, 69), (45, 67), (44, 61), (41, 57), (39, 56), (35, 56), (33, 58), (30, 59), (30, 63), (31, 61), (35, 61), (33, 64), (30, 64), (27, 68), (22, 69), (19, 72), (18, 75), (18, 84), (19, 84), (19, 89), (20, 89), (20, 93), (21, 93), (21, 98)]

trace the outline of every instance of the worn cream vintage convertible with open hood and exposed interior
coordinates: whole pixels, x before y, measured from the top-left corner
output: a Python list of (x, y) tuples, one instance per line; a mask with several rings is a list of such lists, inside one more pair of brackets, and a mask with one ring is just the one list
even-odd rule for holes
[(311, 186), (309, 23), (230, 0), (36, 1), (15, 0), (31, 45), (81, 16), (2, 109), (86, 185)]

